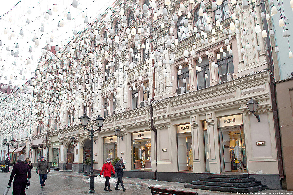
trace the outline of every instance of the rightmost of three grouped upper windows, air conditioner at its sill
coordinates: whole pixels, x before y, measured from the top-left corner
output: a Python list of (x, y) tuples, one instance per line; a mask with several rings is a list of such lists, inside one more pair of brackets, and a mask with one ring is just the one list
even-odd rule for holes
[(220, 53), (221, 59), (217, 60), (218, 62), (218, 75), (219, 78), (221, 75), (231, 73), (231, 77), (234, 74), (234, 64), (233, 64), (233, 56), (229, 55), (228, 51), (223, 51)]

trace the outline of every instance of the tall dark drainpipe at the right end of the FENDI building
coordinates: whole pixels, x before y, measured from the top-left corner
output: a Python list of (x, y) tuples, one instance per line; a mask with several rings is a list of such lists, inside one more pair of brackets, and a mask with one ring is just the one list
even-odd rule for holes
[[(264, 0), (260, 0), (261, 10), (265, 12), (265, 2)], [(266, 19), (263, 19), (263, 26), (264, 29), (269, 32), (268, 29), (268, 22)], [(276, 135), (276, 147), (277, 147), (277, 161), (280, 173), (280, 179), (284, 179), (284, 168), (283, 168), (283, 159), (282, 159), (282, 147), (281, 147), (281, 136), (280, 136), (280, 125), (279, 125), (279, 117), (278, 117), (278, 110), (277, 110), (277, 101), (276, 101), (276, 87), (274, 84), (274, 63), (272, 59), (272, 51), (270, 45), (270, 36), (265, 38), (267, 44), (267, 53), (268, 53), (268, 60), (269, 60), (269, 69), (270, 69), (270, 90), (271, 90), (271, 98), (272, 98), (272, 110), (273, 110), (273, 117), (274, 117), (274, 127), (275, 127), (275, 135)]]

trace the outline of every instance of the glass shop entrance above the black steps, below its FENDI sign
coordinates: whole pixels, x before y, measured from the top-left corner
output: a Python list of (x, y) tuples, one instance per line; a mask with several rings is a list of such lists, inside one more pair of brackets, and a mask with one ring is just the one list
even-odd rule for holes
[(247, 173), (243, 125), (219, 128), (222, 172)]

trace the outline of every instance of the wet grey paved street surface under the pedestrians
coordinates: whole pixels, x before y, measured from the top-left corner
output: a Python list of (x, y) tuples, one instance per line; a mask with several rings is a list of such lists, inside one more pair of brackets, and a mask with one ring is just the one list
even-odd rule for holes
[[(12, 168), (12, 167), (11, 167)], [(12, 169), (11, 169), (12, 170)], [(0, 194), (3, 194), (5, 188), (7, 187), (8, 180), (11, 172), (0, 173)], [(89, 189), (88, 176), (83, 176), (81, 173), (64, 173), (59, 171), (51, 171), (48, 173), (47, 180), (45, 182), (46, 186), (40, 188), (39, 175), (36, 174), (36, 169), (32, 169), (32, 177), (30, 179), (30, 188), (26, 189), (27, 195), (75, 195), (75, 194), (89, 194), (87, 191)], [(216, 194), (236, 194), (229, 192), (218, 192), (209, 190), (199, 190), (199, 189), (187, 189), (184, 188), (185, 183), (178, 182), (168, 182), (168, 181), (156, 181), (152, 179), (137, 179), (137, 178), (127, 178), (123, 177), (123, 184), (126, 191), (115, 190), (114, 183), (110, 183), (111, 192), (104, 191), (104, 183), (95, 182), (96, 193), (93, 194), (121, 194), (121, 195), (151, 195), (149, 186), (161, 185), (160, 188), (174, 189), (182, 191), (196, 191), (200, 195), (216, 195)], [(13, 187), (13, 182), (12, 182)], [(156, 186), (157, 187), (157, 186)], [(119, 185), (121, 189), (121, 186)], [(278, 190), (263, 190), (265, 194), (276, 193), (276, 192), (290, 192), (292, 191), (278, 191)], [(8, 194), (12, 194), (12, 189), (9, 189)]]

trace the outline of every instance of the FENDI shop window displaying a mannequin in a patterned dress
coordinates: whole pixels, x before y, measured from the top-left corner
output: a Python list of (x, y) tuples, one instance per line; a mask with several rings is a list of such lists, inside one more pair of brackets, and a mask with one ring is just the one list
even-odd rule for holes
[(132, 133), (132, 169), (151, 169), (151, 131)]

